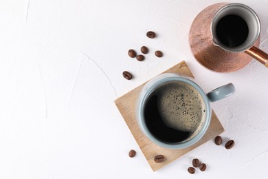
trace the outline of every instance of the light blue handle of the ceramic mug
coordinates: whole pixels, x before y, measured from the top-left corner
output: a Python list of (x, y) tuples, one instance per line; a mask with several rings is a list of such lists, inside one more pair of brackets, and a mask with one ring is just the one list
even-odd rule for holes
[(207, 94), (208, 98), (211, 102), (218, 101), (222, 98), (225, 98), (227, 96), (230, 96), (231, 94), (234, 94), (236, 91), (233, 83), (228, 83), (226, 85), (223, 85), (221, 87), (218, 87), (211, 92)]

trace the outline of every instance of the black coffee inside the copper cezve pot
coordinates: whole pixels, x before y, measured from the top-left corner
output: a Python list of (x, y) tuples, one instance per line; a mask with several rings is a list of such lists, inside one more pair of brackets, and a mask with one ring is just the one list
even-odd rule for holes
[(228, 14), (216, 23), (216, 36), (227, 47), (242, 45), (249, 35), (246, 21), (235, 14)]

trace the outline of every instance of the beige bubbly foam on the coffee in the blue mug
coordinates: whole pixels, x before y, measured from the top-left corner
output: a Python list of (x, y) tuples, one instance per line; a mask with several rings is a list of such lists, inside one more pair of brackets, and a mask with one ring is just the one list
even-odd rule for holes
[(205, 120), (205, 103), (201, 94), (183, 82), (164, 83), (154, 92), (165, 125), (179, 131), (197, 133)]

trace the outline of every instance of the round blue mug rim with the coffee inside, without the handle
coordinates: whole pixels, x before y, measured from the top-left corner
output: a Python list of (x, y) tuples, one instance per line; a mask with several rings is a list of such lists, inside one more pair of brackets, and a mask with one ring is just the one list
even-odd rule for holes
[(211, 107), (203, 89), (188, 78), (150, 81), (140, 105), (140, 127), (157, 145), (185, 148), (197, 143), (210, 123)]

